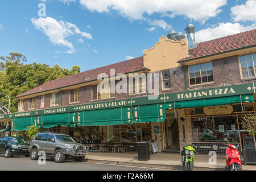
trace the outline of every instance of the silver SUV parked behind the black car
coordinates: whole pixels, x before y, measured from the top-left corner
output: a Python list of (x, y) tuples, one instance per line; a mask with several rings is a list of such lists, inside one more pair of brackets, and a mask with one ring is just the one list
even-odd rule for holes
[(56, 163), (72, 158), (77, 162), (82, 162), (86, 155), (85, 147), (80, 143), (76, 143), (69, 135), (51, 132), (36, 134), (31, 140), (28, 151), (32, 160), (37, 160), (40, 151), (44, 151), (46, 156), (54, 159)]

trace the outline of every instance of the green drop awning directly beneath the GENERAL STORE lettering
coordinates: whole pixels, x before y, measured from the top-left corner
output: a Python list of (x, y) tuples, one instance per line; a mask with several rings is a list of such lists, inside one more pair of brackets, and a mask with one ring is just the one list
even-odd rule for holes
[(45, 129), (55, 127), (58, 125), (68, 126), (69, 125), (69, 113), (64, 114), (50, 114), (42, 116), (42, 123)]

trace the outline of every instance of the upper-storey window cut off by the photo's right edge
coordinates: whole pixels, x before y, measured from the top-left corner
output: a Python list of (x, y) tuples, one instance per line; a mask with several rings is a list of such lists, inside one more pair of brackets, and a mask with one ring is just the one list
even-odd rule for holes
[(240, 56), (240, 65), (243, 78), (255, 77), (256, 53)]

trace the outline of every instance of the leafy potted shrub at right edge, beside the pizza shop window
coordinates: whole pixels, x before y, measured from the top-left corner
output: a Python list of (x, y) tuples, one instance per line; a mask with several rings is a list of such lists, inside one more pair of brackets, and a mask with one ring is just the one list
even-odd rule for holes
[(249, 132), (250, 135), (256, 134), (256, 117), (254, 114), (245, 114), (241, 117), (241, 125), (243, 129)]

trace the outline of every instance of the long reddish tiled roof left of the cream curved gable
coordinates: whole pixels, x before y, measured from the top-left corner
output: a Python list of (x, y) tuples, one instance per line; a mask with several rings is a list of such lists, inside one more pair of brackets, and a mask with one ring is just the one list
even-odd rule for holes
[(129, 73), (129, 72), (145, 69), (143, 64), (143, 57), (137, 57), (131, 60), (126, 60), (119, 63), (107, 65), (105, 67), (91, 69), (89, 71), (77, 73), (76, 75), (71, 75), (63, 78), (58, 78), (56, 80), (51, 80), (34, 89), (31, 89), (31, 90), (28, 90), (27, 92), (19, 94), (19, 96), (16, 96), (16, 97), (23, 97), (30, 94), (46, 92), (53, 89), (64, 88), (71, 85), (82, 84), (84, 82), (97, 80), (97, 77), (100, 73), (106, 73), (110, 76), (110, 69), (115, 69), (116, 75), (118, 73)]

